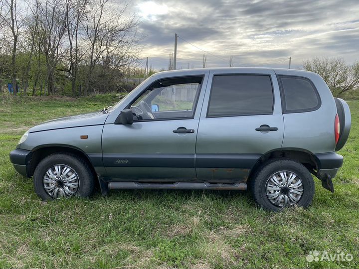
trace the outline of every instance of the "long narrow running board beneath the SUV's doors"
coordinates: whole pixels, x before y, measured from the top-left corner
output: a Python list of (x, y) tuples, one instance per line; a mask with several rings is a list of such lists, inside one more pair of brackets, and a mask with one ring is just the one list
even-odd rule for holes
[(215, 184), (208, 182), (176, 182), (176, 183), (140, 183), (110, 182), (110, 190), (119, 189), (167, 189), (167, 190), (246, 190), (247, 183)]

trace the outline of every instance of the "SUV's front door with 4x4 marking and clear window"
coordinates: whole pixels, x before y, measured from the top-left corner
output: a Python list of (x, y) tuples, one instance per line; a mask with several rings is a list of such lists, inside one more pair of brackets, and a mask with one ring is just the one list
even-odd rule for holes
[(198, 104), (207, 74), (154, 81), (126, 104), (136, 115), (132, 125), (105, 124), (103, 162), (112, 180), (196, 180)]

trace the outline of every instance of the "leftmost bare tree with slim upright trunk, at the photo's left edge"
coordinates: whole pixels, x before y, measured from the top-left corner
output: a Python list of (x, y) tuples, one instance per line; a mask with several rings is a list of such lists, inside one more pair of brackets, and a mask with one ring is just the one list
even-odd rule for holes
[(24, 24), (24, 10), (19, 7), (16, 0), (3, 0), (1, 5), (0, 20), (11, 32), (11, 82), (13, 95), (16, 95), (16, 52), (17, 42)]

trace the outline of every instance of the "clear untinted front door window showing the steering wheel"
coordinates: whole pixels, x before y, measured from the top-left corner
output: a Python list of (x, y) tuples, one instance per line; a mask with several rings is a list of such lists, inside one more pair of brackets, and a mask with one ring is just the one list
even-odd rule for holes
[(202, 76), (164, 79), (152, 84), (130, 108), (135, 121), (193, 118)]

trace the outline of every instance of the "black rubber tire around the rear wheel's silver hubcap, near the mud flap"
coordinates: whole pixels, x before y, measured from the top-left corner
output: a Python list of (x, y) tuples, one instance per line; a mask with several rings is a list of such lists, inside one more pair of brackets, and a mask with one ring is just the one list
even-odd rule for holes
[(266, 210), (278, 211), (282, 207), (274, 205), (266, 195), (266, 184), (269, 178), (280, 172), (290, 171), (299, 176), (303, 183), (303, 194), (296, 203), (297, 206), (308, 207), (314, 196), (314, 180), (308, 169), (301, 163), (291, 159), (270, 159), (260, 165), (250, 180), (250, 189), (255, 202)]

